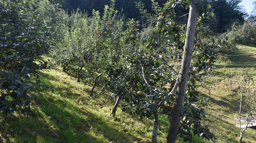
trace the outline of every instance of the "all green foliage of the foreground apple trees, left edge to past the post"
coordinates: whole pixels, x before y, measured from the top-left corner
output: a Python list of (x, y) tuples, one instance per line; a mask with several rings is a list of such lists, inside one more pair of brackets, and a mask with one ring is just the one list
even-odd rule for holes
[[(22, 113), (30, 111), (29, 97), (34, 85), (29, 77), (47, 68), (49, 61), (42, 55), (51, 50), (63, 71), (76, 75), (78, 82), (94, 82), (91, 96), (95, 84), (100, 84), (102, 89), (124, 99), (123, 111), (140, 117), (154, 116), (155, 122), (158, 115), (167, 115), (172, 122), (177, 71), (186, 39), (185, 28), (177, 24), (175, 8), (185, 5), (188, 9), (190, 1), (151, 3), (152, 10), (146, 10), (142, 2), (136, 3), (141, 21), (148, 21), (148, 25), (140, 25), (141, 21), (135, 19), (125, 23), (115, 9), (115, 0), (104, 7), (102, 16), (94, 9), (91, 16), (79, 9), (68, 15), (57, 8), (61, 7), (58, 1), (3, 1), (1, 109), (14, 112), (18, 105)], [(213, 138), (209, 129), (201, 125), (204, 109), (195, 105), (200, 101), (196, 82), (201, 80), (201, 72), (214, 65), (220, 44), (208, 36), (207, 25), (216, 21), (208, 4), (206, 0), (199, 4), (202, 11), (196, 23), (193, 61), (179, 128), (179, 136), (190, 142), (193, 135)]]

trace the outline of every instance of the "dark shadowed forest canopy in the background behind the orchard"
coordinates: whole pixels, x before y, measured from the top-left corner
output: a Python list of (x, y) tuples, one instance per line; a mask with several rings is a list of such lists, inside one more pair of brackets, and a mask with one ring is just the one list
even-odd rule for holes
[[(151, 0), (117, 0), (116, 9), (122, 11), (127, 18), (139, 18), (139, 10), (135, 7), (134, 2), (141, 1), (145, 4), (145, 9), (152, 13), (152, 1)], [(214, 32), (226, 32), (227, 29), (231, 29), (234, 22), (242, 24), (247, 16), (246, 12), (239, 6), (241, 0), (210, 0), (212, 3), (214, 13), (217, 16), (217, 23), (211, 25), (211, 30)], [(166, 0), (156, 0), (163, 5)], [(104, 5), (109, 5), (109, 0), (65, 0), (62, 3), (63, 9), (68, 10), (70, 13), (73, 9), (79, 8), (81, 11), (88, 11), (91, 14), (92, 9), (99, 10), (100, 14), (103, 14)], [(184, 7), (178, 6), (175, 8), (177, 16), (182, 16), (188, 13), (188, 10)], [(139, 19), (138, 19), (139, 20)], [(179, 23), (186, 24), (187, 16), (180, 18)]]

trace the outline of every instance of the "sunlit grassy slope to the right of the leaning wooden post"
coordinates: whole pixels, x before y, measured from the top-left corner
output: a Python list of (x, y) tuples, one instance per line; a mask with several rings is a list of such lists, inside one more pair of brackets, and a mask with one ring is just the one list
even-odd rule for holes
[[(256, 53), (256, 47), (250, 45), (238, 45), (237, 51), (231, 51), (228, 55)], [(223, 64), (255, 64), (256, 55), (230, 56), (219, 60)], [(240, 89), (242, 86), (243, 74), (247, 73), (256, 80), (256, 66), (219, 66), (210, 75), (212, 109), (215, 120), (216, 136), (220, 143), (232, 143), (239, 141), (239, 128), (236, 127), (235, 116), (239, 111)], [(215, 84), (214, 84), (215, 83)], [(253, 85), (253, 83), (251, 83)], [(200, 89), (206, 96), (206, 89)], [(210, 109), (207, 110), (210, 113)], [(210, 115), (207, 123), (210, 124)], [(246, 130), (243, 141), (246, 143), (256, 143), (254, 133), (256, 128)]]

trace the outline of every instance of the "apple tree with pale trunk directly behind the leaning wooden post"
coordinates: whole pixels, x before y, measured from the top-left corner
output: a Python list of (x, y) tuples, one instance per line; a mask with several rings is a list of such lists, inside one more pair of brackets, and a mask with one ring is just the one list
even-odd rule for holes
[[(167, 114), (170, 122), (172, 122), (172, 112), (175, 105), (175, 97), (177, 95), (176, 88), (178, 83), (178, 74), (174, 63), (180, 62), (180, 56), (177, 53), (182, 53), (184, 39), (181, 37), (182, 32), (179, 31), (179, 26), (175, 24), (175, 16), (173, 8), (179, 3), (168, 1), (161, 8), (157, 2), (153, 1), (156, 15), (152, 19), (157, 19), (155, 30), (151, 31), (149, 36), (140, 36), (133, 39), (129, 43), (129, 56), (126, 57), (126, 65), (129, 66), (128, 71), (131, 76), (126, 84), (127, 86), (123, 96), (125, 104), (123, 110), (130, 114), (143, 117), (153, 116), (153, 135), (152, 142), (157, 142), (157, 124), (158, 114)], [(207, 8), (208, 5), (206, 5)], [(208, 8), (207, 8), (208, 9)], [(209, 10), (209, 9), (208, 9)], [(208, 18), (211, 18), (208, 17)], [(202, 23), (202, 21), (200, 21)], [(198, 25), (200, 25), (198, 23)], [(200, 31), (197, 31), (201, 34)], [(205, 37), (205, 35), (202, 33)], [(197, 40), (194, 48), (195, 56), (202, 55), (205, 49), (207, 50), (207, 65), (213, 64), (215, 53), (211, 52), (211, 48), (203, 48), (202, 40)], [(128, 51), (127, 51), (128, 52)], [(195, 59), (201, 61), (202, 64), (196, 66), (200, 72), (205, 67), (203, 57)], [(127, 72), (128, 74), (128, 72)], [(212, 139), (213, 134), (208, 128), (201, 125), (200, 120), (204, 118), (204, 110), (192, 104), (197, 99), (195, 73), (191, 71), (187, 83), (187, 95), (185, 96), (184, 109), (181, 111), (183, 121), (179, 126), (179, 136), (184, 138), (184, 141), (192, 141), (193, 134), (202, 136), (206, 139)], [(169, 88), (168, 88), (169, 86)], [(128, 89), (130, 90), (127, 93)], [(193, 134), (191, 133), (193, 132)]]

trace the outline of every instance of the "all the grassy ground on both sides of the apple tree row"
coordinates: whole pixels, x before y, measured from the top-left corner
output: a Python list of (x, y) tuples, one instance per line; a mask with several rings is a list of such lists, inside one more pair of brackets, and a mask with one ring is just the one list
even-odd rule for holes
[[(256, 47), (239, 46), (238, 53), (255, 53)], [(222, 59), (221, 64), (256, 64), (256, 56), (238, 56)], [(246, 62), (246, 63), (245, 63)], [(239, 128), (235, 127), (235, 113), (238, 111), (239, 88), (243, 72), (256, 79), (256, 66), (219, 67), (211, 74), (211, 93), (215, 118), (217, 142), (238, 141)], [(114, 105), (111, 93), (93, 99), (88, 96), (90, 87), (76, 80), (61, 69), (40, 73), (41, 83), (45, 85), (35, 92), (39, 95), (32, 102), (32, 116), (1, 117), (0, 136), (7, 141), (18, 143), (134, 143), (150, 142), (152, 120), (133, 119), (119, 108), (116, 118), (109, 114)], [(215, 83), (215, 85), (213, 85)], [(200, 89), (207, 96), (205, 88)], [(207, 110), (209, 113), (209, 109)], [(166, 141), (168, 122), (160, 116), (158, 141)], [(204, 124), (210, 126), (210, 115)], [(248, 129), (245, 142), (256, 142), (255, 129)], [(1, 141), (0, 141), (1, 142)], [(205, 143), (194, 137), (196, 143)]]

